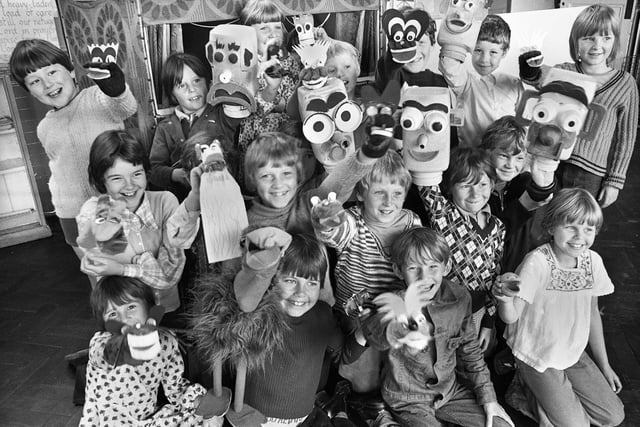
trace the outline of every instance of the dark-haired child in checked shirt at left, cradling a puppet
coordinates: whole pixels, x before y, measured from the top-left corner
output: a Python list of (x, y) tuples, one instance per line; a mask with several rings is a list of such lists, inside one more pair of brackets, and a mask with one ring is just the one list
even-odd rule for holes
[[(81, 269), (92, 276), (138, 278), (153, 288), (158, 305), (171, 312), (180, 306), (177, 284), (185, 255), (168, 243), (165, 227), (178, 201), (168, 191), (146, 191), (148, 170), (146, 149), (132, 133), (106, 131), (98, 135), (89, 154), (89, 181), (98, 193), (125, 202), (121, 225), (134, 255), (123, 263), (87, 246)], [(95, 221), (97, 205), (97, 197), (82, 205), (77, 217), (81, 238)]]

